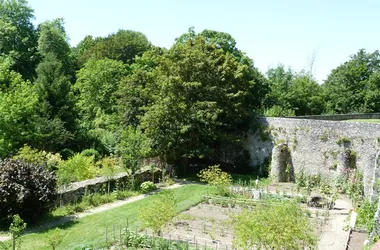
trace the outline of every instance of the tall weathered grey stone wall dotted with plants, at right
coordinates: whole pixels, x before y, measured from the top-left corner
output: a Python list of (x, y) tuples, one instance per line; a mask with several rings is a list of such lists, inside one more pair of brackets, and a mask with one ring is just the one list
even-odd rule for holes
[(250, 165), (262, 164), (271, 156), (275, 145), (290, 149), (294, 171), (335, 176), (351, 164), (347, 156), (364, 174), (364, 189), (372, 196), (373, 182), (379, 175), (375, 161), (379, 151), (380, 124), (303, 120), (293, 118), (261, 118), (260, 129), (248, 138)]

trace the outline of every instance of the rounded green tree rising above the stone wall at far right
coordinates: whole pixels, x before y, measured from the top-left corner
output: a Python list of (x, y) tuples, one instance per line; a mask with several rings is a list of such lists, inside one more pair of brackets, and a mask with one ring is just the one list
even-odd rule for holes
[[(351, 59), (332, 70), (323, 84), (326, 111), (329, 113), (378, 112), (371, 93), (378, 86), (379, 51), (359, 50)], [(375, 99), (373, 99), (375, 98)], [(368, 103), (370, 102), (370, 103)]]

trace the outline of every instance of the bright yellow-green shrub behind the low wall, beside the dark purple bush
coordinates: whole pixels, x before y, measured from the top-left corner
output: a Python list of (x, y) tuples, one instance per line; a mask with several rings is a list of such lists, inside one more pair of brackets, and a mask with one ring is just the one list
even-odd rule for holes
[(74, 181), (94, 178), (96, 168), (91, 157), (76, 154), (59, 164), (57, 175), (59, 185), (64, 185)]

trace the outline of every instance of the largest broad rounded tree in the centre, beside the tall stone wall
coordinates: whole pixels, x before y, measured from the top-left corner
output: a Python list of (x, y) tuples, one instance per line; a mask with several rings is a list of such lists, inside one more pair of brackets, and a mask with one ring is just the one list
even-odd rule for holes
[(197, 35), (175, 44), (157, 65), (153, 82), (146, 82), (152, 100), (140, 118), (154, 154), (217, 158), (223, 143), (242, 141), (264, 89), (251, 60)]

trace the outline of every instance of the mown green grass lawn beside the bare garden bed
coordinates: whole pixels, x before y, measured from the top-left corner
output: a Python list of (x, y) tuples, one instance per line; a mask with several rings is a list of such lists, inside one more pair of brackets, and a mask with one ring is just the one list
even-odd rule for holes
[[(196, 184), (174, 189), (173, 192), (178, 202), (178, 212), (199, 203), (201, 196), (207, 194), (208, 191), (207, 186)], [(57, 250), (75, 249), (76, 247), (80, 248), (85, 245), (93, 245), (95, 247), (105, 246), (106, 227), (111, 228), (115, 225), (118, 228), (120, 224), (126, 225), (127, 218), (129, 228), (141, 229), (143, 225), (139, 221), (139, 210), (152, 204), (155, 199), (157, 199), (157, 195), (151, 195), (142, 200), (65, 224), (61, 228), (64, 229), (66, 235)], [(22, 236), (22, 249), (50, 249), (47, 244), (47, 237), (53, 231), (54, 229), (50, 229)]]

